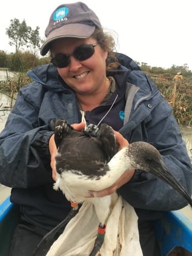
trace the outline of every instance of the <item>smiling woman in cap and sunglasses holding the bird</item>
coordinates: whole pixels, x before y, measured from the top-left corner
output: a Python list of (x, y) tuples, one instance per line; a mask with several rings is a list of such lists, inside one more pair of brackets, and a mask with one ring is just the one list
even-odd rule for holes
[[(95, 13), (82, 2), (60, 5), (51, 14), (45, 36), (41, 54), (50, 51), (51, 63), (28, 72), (33, 83), (20, 90), (1, 133), (0, 182), (13, 187), (11, 201), (21, 211), (12, 256), (32, 255), (41, 238), (70, 211), (61, 192), (53, 190), (53, 120), (65, 118), (74, 129), (81, 130), (84, 113), (87, 124), (107, 123), (118, 131), (120, 147), (133, 141), (152, 143), (191, 194), (190, 159), (171, 107), (130, 58), (115, 58), (114, 41), (104, 33)], [(116, 189), (139, 217), (144, 255), (159, 255), (151, 221), (187, 202), (142, 170), (125, 172), (97, 196), (112, 194)]]

